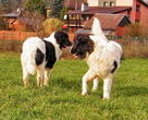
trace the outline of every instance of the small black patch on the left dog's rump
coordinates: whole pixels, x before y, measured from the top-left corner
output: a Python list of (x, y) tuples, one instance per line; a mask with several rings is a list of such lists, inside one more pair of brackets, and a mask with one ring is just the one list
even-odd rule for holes
[(35, 57), (36, 64), (37, 65), (41, 64), (44, 62), (44, 59), (45, 59), (45, 55), (40, 51), (40, 49), (37, 48), (36, 57)]

